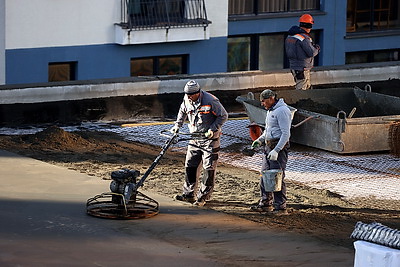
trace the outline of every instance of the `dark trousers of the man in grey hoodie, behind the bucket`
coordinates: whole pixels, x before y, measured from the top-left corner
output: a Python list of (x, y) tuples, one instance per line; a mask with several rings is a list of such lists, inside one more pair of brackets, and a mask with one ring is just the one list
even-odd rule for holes
[(282, 169), (282, 190), (278, 192), (266, 192), (263, 180), (260, 176), (260, 188), (261, 188), (261, 205), (274, 206), (275, 209), (286, 209), (286, 183), (285, 183), (285, 169), (288, 160), (288, 147), (284, 147), (278, 154), (278, 160), (268, 160), (268, 153), (272, 149), (265, 146), (263, 153), (263, 162), (261, 166), (261, 171), (271, 170), (271, 169)]

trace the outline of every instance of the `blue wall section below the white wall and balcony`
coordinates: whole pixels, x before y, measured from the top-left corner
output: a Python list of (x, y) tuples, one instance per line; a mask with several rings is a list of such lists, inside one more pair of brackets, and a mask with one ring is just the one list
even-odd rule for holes
[(77, 80), (130, 76), (130, 59), (189, 55), (189, 74), (226, 72), (226, 37), (204, 41), (15, 49), (6, 51), (6, 84), (48, 81), (48, 63), (76, 61)]

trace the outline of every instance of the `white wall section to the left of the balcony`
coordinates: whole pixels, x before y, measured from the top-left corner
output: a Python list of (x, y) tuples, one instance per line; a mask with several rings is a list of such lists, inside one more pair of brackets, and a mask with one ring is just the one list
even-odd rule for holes
[(6, 49), (112, 43), (120, 22), (120, 0), (5, 1)]

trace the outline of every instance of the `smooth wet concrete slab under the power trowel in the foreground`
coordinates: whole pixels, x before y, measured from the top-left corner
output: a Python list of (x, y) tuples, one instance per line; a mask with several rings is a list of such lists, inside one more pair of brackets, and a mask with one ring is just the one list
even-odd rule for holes
[(0, 151), (1, 266), (352, 266), (354, 251), (143, 192), (160, 214), (86, 215), (109, 181)]

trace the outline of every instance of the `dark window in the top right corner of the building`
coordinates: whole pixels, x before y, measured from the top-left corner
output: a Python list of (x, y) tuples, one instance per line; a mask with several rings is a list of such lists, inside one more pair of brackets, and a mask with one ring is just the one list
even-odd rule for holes
[(397, 0), (348, 0), (347, 32), (400, 28)]

